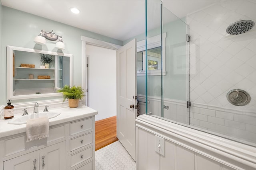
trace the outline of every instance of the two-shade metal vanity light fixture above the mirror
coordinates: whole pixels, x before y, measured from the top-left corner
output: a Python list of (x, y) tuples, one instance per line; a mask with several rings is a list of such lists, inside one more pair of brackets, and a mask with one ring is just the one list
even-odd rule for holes
[(36, 36), (34, 42), (37, 43), (37, 44), (40, 44), (40, 45), (45, 45), (46, 44), (46, 39), (48, 39), (50, 41), (56, 41), (56, 40), (59, 39), (59, 41), (56, 43), (55, 47), (57, 49), (62, 49), (62, 50), (65, 49), (65, 45), (63, 43), (62, 36), (57, 35), (53, 31), (48, 32), (48, 31), (41, 30), (39, 35)]

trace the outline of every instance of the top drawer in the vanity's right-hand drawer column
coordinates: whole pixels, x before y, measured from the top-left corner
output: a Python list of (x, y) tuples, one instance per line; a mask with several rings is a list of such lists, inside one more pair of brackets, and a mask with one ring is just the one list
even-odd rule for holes
[(70, 123), (70, 136), (92, 129), (92, 118)]

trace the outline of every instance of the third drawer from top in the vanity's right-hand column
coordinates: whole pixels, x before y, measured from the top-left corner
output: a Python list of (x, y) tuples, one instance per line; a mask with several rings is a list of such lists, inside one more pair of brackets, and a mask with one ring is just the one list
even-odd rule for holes
[(92, 146), (70, 155), (70, 168), (92, 158)]

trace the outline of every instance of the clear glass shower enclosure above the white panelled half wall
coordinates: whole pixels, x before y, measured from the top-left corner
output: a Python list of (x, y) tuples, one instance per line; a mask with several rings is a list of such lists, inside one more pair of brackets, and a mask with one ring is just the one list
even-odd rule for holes
[[(139, 69), (146, 72), (146, 114), (255, 147), (256, 29), (227, 34), (216, 25), (221, 17), (219, 24), (226, 24), (229, 13), (215, 12), (223, 8), (233, 7), (219, 2), (178, 18), (160, 0), (146, 0), (146, 51)], [(250, 97), (246, 106), (230, 102), (230, 95), (239, 102), (244, 94)]]

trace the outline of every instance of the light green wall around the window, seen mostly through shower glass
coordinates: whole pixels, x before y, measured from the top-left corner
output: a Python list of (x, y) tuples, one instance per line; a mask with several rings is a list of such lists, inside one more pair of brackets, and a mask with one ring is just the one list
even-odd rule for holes
[[(182, 18), (184, 20), (184, 18)], [(164, 98), (186, 100), (186, 87), (187, 79), (186, 72), (181, 71), (180, 74), (174, 72), (175, 64), (174, 49), (180, 45), (186, 45), (186, 24), (182, 20), (172, 21), (164, 24), (164, 32), (166, 32), (166, 75), (163, 76), (163, 96)], [(150, 36), (159, 34), (159, 28), (150, 30)], [(137, 41), (142, 40), (143, 36), (138, 35)], [(134, 37), (134, 38), (137, 38)], [(145, 34), (144, 34), (145, 37)], [(124, 44), (129, 42), (124, 41)], [(183, 52), (186, 53), (186, 47), (180, 47)], [(176, 53), (177, 54), (177, 53)], [(183, 62), (186, 62), (183, 61)], [(186, 63), (185, 63), (186, 64)], [(137, 94), (146, 95), (146, 81), (145, 76), (137, 76)], [(148, 76), (148, 96), (160, 96), (161, 95), (161, 76)]]

